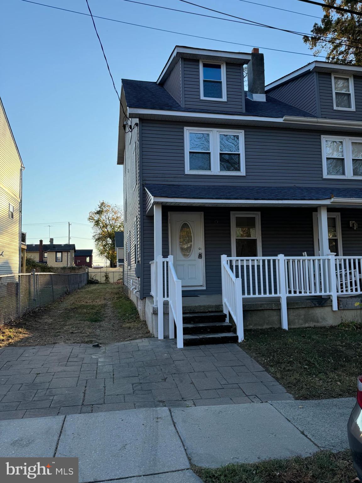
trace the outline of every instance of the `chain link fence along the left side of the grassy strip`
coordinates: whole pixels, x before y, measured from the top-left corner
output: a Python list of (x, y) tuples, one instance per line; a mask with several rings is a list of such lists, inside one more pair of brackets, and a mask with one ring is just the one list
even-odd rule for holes
[(87, 282), (88, 272), (0, 275), (0, 325), (44, 307)]

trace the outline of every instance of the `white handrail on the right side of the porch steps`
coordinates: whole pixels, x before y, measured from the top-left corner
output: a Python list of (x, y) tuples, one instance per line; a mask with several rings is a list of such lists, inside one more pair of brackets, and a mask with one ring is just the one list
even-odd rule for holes
[(227, 264), (226, 255), (221, 256), (222, 286), (223, 286), (223, 311), (229, 321), (229, 313), (233, 317), (237, 327), (237, 338), (244, 340), (243, 304), (241, 278), (236, 278)]

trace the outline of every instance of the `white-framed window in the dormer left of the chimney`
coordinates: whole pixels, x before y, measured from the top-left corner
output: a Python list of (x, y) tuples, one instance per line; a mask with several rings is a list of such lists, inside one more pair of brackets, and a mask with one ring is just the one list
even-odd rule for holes
[(225, 64), (200, 60), (201, 99), (226, 100)]

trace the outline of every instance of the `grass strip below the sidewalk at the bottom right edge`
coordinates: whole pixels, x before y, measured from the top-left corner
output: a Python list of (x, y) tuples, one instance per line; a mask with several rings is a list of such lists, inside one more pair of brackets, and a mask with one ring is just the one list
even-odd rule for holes
[(356, 477), (349, 451), (193, 469), (205, 483), (350, 483)]

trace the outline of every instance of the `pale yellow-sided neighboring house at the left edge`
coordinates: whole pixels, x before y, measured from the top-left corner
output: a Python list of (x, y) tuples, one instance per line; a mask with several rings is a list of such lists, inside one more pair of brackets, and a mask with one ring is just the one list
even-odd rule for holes
[(0, 99), (0, 275), (25, 271), (26, 233), (21, 233), (24, 165)]

